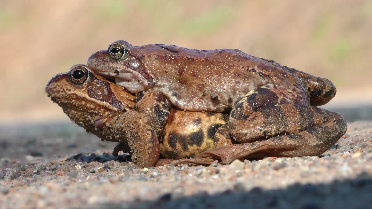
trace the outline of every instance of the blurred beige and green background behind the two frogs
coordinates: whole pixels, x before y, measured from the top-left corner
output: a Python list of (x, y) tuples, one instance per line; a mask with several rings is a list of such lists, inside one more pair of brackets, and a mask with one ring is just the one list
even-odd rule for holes
[(328, 78), (327, 105), (372, 101), (372, 1), (0, 1), (0, 122), (68, 120), (44, 87), (118, 39), (241, 49)]

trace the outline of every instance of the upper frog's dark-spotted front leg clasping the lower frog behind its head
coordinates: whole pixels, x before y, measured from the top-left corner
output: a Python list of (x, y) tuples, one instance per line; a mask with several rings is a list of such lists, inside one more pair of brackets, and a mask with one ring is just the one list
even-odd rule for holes
[(149, 92), (138, 94), (135, 110), (144, 113), (153, 122), (156, 135), (159, 137), (164, 131), (167, 123), (171, 103), (167, 97), (158, 92)]

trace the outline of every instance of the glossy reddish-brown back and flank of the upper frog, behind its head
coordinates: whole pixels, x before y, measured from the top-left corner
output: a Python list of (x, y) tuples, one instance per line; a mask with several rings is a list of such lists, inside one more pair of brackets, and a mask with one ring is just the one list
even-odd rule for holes
[(174, 45), (145, 45), (147, 69), (157, 80), (153, 91), (166, 94), (182, 109), (222, 112), (249, 91), (272, 83), (306, 91), (302, 82), (276, 62), (238, 49), (198, 50)]

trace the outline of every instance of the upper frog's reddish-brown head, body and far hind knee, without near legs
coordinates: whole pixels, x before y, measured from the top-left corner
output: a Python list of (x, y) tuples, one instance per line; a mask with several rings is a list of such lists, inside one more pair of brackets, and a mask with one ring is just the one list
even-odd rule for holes
[(114, 60), (107, 50), (98, 51), (88, 59), (93, 71), (115, 78), (116, 83), (133, 93), (144, 90), (163, 93), (180, 109), (231, 110), (251, 90), (267, 84), (280, 91), (296, 91), (287, 97), (297, 105), (323, 105), (336, 94), (336, 88), (327, 79), (238, 49), (132, 46), (126, 41), (113, 44), (124, 46), (126, 55)]

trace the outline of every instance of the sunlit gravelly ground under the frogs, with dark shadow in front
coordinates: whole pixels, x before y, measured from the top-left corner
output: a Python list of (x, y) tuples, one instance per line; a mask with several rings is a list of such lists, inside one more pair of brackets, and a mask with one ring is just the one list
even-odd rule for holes
[(372, 122), (320, 157), (137, 169), (72, 123), (1, 126), (0, 208), (368, 208)]

